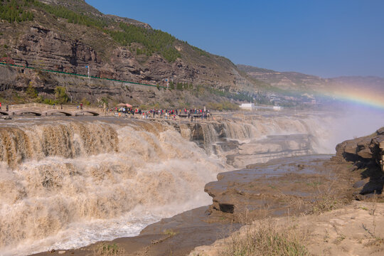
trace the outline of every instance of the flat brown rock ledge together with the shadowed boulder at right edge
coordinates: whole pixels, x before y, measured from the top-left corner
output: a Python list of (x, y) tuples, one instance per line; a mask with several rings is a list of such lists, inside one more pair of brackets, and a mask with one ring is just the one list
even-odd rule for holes
[(338, 144), (332, 159), (316, 157), (277, 159), (218, 174), (218, 181), (205, 187), (213, 198), (210, 212), (235, 220), (245, 215), (298, 213), (306, 210), (309, 201), (330, 196), (326, 193), (335, 183), (331, 196), (336, 198), (363, 199), (382, 193), (384, 127)]

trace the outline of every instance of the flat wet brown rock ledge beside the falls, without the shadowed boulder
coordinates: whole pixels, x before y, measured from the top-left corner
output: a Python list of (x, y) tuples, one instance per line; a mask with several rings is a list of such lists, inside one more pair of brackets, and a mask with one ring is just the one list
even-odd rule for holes
[(341, 200), (351, 198), (358, 187), (349, 184), (358, 182), (359, 174), (351, 175), (349, 164), (336, 164), (330, 158), (297, 156), (218, 174), (218, 181), (205, 186), (213, 197), (210, 213), (241, 222), (306, 212), (313, 201), (329, 196), (330, 191)]

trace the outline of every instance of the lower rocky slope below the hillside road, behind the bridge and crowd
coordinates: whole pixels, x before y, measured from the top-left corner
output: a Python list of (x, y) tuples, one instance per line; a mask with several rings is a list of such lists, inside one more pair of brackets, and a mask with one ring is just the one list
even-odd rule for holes
[[(55, 73), (40, 73), (27, 68), (12, 68), (0, 65), (0, 88), (2, 97), (18, 102), (17, 93), (25, 91), (29, 82), (36, 88), (38, 95), (50, 97), (54, 94), (55, 87), (64, 86), (70, 101), (80, 102), (87, 99), (90, 102), (100, 100), (114, 102), (129, 102), (132, 105), (155, 105), (169, 108), (178, 107), (178, 102), (191, 106), (203, 106), (208, 99), (196, 97), (191, 92), (179, 90), (158, 90), (156, 87), (143, 85), (130, 85), (122, 82), (96, 80), (62, 75)], [(15, 97), (16, 95), (16, 97)], [(219, 102), (220, 97), (210, 97), (210, 102)], [(112, 107), (112, 105), (110, 106)]]

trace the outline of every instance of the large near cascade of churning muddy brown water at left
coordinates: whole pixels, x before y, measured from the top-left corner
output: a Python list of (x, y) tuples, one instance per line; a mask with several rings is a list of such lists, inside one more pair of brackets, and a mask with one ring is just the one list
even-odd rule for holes
[(42, 122), (0, 134), (0, 255), (137, 235), (209, 204), (201, 188), (225, 170), (159, 123)]

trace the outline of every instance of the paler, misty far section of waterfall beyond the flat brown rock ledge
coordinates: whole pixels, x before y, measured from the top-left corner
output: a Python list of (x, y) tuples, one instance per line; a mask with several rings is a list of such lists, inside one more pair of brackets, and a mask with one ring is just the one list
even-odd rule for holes
[[(236, 168), (284, 156), (330, 153), (324, 147), (329, 122), (323, 117), (303, 114), (247, 115), (229, 117), (220, 122), (195, 124), (193, 139), (200, 141), (208, 154), (226, 157)], [(237, 144), (234, 144), (236, 142)]]

